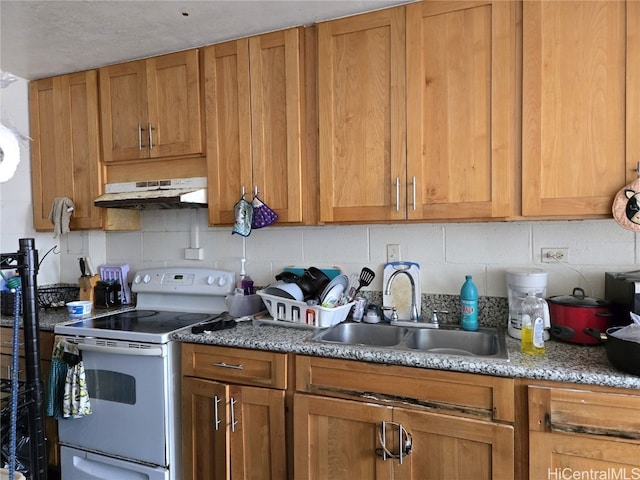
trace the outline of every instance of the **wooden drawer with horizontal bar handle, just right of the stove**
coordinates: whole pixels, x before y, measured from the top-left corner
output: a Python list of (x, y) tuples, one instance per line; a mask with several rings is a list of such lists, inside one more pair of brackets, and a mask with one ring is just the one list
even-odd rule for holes
[(284, 390), (287, 386), (287, 355), (183, 343), (182, 374)]

